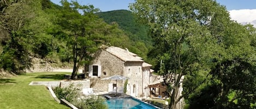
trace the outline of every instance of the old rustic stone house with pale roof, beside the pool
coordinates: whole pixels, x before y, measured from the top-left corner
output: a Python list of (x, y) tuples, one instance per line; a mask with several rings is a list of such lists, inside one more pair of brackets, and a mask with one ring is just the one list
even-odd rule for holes
[(108, 47), (100, 49), (88, 66), (88, 79), (91, 87), (99, 91), (122, 92), (125, 80), (101, 80), (113, 75), (128, 78), (126, 94), (133, 97), (144, 97), (145, 88), (150, 84), (152, 65), (144, 62), (138, 55), (128, 49)]

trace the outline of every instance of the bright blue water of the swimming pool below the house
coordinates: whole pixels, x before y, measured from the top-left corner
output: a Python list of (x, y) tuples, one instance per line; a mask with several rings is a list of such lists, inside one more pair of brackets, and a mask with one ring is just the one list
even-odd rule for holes
[(109, 99), (106, 100), (109, 109), (154, 109), (155, 107), (145, 104), (133, 98)]

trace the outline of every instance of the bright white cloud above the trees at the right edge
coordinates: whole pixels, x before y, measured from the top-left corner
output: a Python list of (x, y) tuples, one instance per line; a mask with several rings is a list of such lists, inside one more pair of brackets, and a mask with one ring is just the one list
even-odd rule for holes
[(231, 20), (242, 24), (251, 23), (256, 27), (256, 9), (230, 10), (229, 14)]

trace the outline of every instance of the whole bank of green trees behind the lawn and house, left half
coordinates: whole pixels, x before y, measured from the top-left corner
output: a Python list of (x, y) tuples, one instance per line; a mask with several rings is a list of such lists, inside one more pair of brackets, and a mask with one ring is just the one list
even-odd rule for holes
[(74, 1), (61, 3), (1, 2), (1, 68), (22, 74), (33, 67), (32, 59), (36, 57), (50, 63), (73, 63), (74, 79), (78, 68), (88, 65), (102, 44), (146, 56), (145, 44), (135, 44), (116, 23), (107, 24), (98, 18), (95, 13), (99, 9)]

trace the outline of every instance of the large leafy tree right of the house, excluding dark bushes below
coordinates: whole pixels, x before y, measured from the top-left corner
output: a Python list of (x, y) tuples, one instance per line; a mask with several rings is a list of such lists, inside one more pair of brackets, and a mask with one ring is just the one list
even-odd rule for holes
[[(231, 21), (216, 1), (137, 0), (130, 9), (150, 27), (158, 73), (164, 76), (171, 96), (169, 108), (204, 87), (213, 76), (213, 66), (236, 58), (255, 62), (248, 58), (255, 57), (248, 34), (251, 27)], [(182, 82), (184, 91), (178, 95)]]

